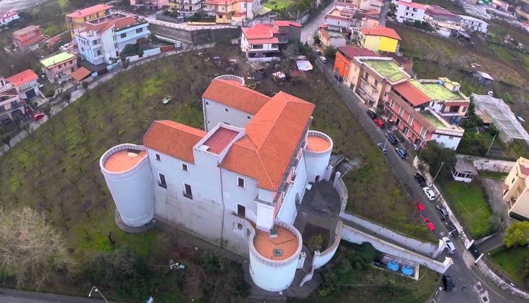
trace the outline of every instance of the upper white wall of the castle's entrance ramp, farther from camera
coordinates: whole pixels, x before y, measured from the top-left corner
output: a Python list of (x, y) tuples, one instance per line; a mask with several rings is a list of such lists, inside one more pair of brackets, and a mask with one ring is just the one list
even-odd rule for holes
[(394, 232), (393, 230), (389, 230), (380, 225), (364, 220), (363, 218), (359, 218), (358, 216), (346, 214), (344, 212), (341, 212), (340, 216), (341, 218), (344, 218), (364, 228), (367, 228), (367, 230), (371, 230), (373, 233), (383, 235), (384, 237), (394, 240), (395, 242), (398, 242), (400, 245), (409, 247), (417, 252), (422, 252), (422, 254), (433, 255), (437, 251), (438, 245), (434, 245), (432, 243), (420, 242), (419, 240), (406, 237), (404, 235), (401, 235), (400, 233)]

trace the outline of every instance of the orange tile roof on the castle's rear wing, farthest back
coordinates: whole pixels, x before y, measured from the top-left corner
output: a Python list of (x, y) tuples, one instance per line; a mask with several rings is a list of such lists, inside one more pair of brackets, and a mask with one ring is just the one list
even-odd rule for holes
[(202, 97), (255, 115), (270, 97), (243, 87), (235, 81), (214, 79)]

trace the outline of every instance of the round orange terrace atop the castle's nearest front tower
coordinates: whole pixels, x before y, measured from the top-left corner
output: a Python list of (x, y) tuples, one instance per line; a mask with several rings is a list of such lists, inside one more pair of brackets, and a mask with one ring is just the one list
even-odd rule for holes
[(296, 253), (298, 238), (286, 228), (274, 225), (277, 237), (270, 237), (268, 232), (255, 230), (253, 245), (257, 252), (270, 260), (285, 260)]

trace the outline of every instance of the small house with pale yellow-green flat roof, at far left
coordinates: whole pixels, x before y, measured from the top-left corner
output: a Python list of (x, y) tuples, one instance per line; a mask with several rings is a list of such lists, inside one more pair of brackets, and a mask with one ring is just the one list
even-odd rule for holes
[(73, 54), (59, 53), (40, 61), (42, 71), (49, 82), (64, 82), (71, 79), (71, 73), (76, 70), (77, 57)]

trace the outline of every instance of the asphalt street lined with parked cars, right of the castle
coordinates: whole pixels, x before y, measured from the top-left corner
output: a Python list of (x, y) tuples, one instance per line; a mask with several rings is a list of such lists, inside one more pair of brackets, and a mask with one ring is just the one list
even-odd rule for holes
[[(320, 68), (324, 68), (327, 78), (332, 80), (332, 65), (322, 65), (319, 61), (316, 62), (316, 65)], [(375, 123), (367, 116), (365, 110), (367, 106), (363, 104), (358, 97), (353, 94), (351, 89), (343, 85), (339, 85), (337, 88), (342, 99), (346, 101), (346, 104), (351, 109), (351, 112), (354, 116), (358, 118), (358, 122), (363, 126), (365, 132), (369, 134), (371, 140), (375, 143), (385, 141), (384, 131), (377, 128)], [(425, 206), (425, 211), (423, 216), (430, 218), (430, 221), (435, 225), (434, 234), (437, 237), (443, 237), (447, 235), (448, 232), (442, 221), (438, 218), (437, 209), (435, 209), (434, 202), (428, 202), (425, 199), (425, 195), (422, 193), (421, 187), (413, 179), (413, 173), (417, 171), (411, 165), (411, 159), (406, 161), (401, 160), (394, 152), (394, 148), (388, 144), (387, 156), (385, 157), (387, 163), (391, 167), (391, 170), (394, 173), (394, 176), (401, 183), (408, 185), (412, 191), (412, 198), (421, 202)], [(454, 244), (456, 245), (457, 252), (456, 254), (450, 255), (454, 261), (446, 273), (451, 274), (456, 285), (456, 290), (454, 292), (444, 292), (439, 291), (435, 296), (437, 302), (454, 302), (454, 303), (500, 303), (500, 302), (525, 302), (517, 297), (512, 297), (511, 295), (503, 292), (495, 285), (492, 284), (489, 280), (483, 280), (470, 268), (473, 264), (473, 257), (470, 255), (461, 241), (454, 239)], [(443, 252), (440, 255), (440, 258), (444, 259), (444, 256), (448, 256), (446, 252)], [(492, 285), (487, 285), (489, 283)], [(463, 285), (467, 285), (465, 289), (462, 289)], [(484, 299), (486, 297), (486, 299)], [(486, 300), (486, 301), (485, 301)]]

